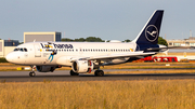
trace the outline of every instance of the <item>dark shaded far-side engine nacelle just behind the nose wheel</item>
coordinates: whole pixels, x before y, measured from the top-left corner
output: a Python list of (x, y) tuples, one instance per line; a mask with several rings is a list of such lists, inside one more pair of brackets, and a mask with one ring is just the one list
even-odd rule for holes
[(36, 66), (37, 71), (39, 72), (53, 72), (55, 70), (55, 66)]

